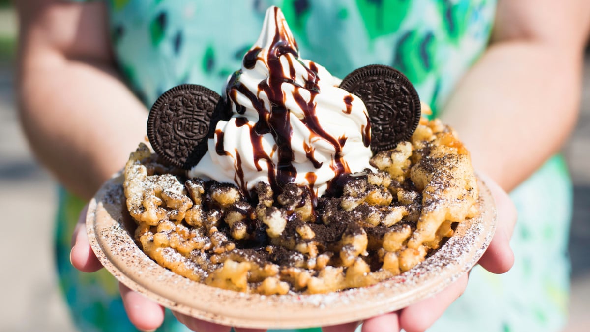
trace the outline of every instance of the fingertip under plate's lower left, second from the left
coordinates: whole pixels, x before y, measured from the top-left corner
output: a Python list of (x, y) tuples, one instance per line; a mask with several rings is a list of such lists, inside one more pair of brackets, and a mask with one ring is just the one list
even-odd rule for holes
[(123, 306), (131, 323), (139, 330), (151, 331), (162, 325), (164, 308), (119, 283)]

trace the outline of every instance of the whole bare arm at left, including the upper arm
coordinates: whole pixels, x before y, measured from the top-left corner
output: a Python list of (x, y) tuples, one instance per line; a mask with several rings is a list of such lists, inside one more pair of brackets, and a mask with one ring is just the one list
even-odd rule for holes
[(25, 135), (60, 183), (90, 198), (144, 139), (148, 112), (114, 70), (103, 4), (16, 4)]

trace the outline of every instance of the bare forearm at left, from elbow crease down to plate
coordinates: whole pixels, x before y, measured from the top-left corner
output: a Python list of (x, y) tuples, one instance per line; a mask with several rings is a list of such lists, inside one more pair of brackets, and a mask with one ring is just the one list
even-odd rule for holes
[(108, 64), (47, 54), (29, 63), (19, 80), (25, 134), (42, 164), (89, 198), (145, 138), (148, 113)]

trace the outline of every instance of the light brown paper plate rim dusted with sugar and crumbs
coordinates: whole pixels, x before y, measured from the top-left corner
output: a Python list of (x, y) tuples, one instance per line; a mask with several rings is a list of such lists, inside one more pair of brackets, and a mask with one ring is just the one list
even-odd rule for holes
[(298, 328), (359, 321), (430, 297), (465, 274), (483, 255), (496, 227), (496, 209), (481, 180), (480, 216), (460, 223), (455, 234), (414, 269), (372, 287), (330, 294), (244, 294), (199, 284), (152, 261), (133, 240), (123, 195), (123, 176), (100, 188), (86, 225), (94, 253), (120, 282), (183, 314), (228, 326)]

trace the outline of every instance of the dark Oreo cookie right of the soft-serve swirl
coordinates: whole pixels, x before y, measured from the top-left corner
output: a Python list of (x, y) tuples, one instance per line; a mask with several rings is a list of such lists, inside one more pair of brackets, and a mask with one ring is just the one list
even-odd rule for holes
[(398, 70), (379, 64), (360, 67), (348, 74), (340, 87), (365, 103), (373, 153), (395, 148), (414, 134), (420, 121), (420, 98)]

